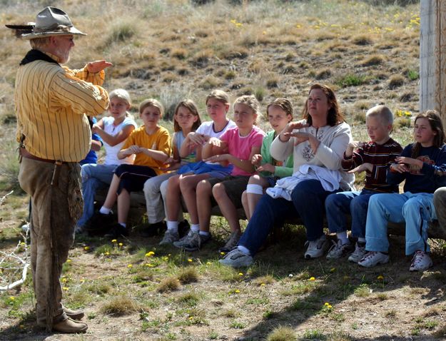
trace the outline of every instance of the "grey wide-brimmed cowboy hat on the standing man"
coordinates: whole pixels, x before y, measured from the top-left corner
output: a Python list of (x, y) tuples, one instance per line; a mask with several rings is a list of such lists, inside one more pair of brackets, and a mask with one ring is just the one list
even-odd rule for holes
[(41, 38), (44, 36), (63, 36), (68, 34), (81, 34), (64, 11), (56, 7), (46, 7), (36, 16), (36, 24), (31, 33), (22, 34), (23, 39)]

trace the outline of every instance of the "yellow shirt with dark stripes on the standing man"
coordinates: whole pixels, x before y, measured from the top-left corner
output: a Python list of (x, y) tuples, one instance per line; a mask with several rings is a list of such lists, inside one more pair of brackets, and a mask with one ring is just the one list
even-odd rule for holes
[(14, 93), (17, 141), (26, 136), (26, 150), (39, 158), (66, 162), (85, 158), (91, 145), (85, 114), (96, 116), (108, 108), (108, 93), (101, 88), (104, 74), (41, 60), (19, 66)]

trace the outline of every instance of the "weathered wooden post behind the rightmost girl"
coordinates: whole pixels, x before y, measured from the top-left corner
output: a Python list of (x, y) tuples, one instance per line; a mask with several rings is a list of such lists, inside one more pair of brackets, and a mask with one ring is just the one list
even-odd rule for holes
[(420, 111), (446, 123), (446, 0), (420, 1)]

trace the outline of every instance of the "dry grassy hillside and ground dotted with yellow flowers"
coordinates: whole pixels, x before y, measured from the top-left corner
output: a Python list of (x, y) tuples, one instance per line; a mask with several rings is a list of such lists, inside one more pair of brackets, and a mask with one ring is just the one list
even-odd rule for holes
[[(203, 3), (203, 4), (201, 4)], [(105, 58), (106, 88), (126, 88), (138, 105), (172, 108), (223, 88), (253, 93), (263, 109), (278, 96), (300, 111), (311, 83), (332, 86), (353, 135), (366, 138), (365, 111), (385, 103), (395, 138), (411, 141), (418, 110), (420, 9), (416, 1), (0, 1), (0, 197), (16, 187), (14, 77), (29, 49), (4, 29), (34, 20), (46, 5), (64, 9), (88, 33), (69, 66)], [(164, 125), (171, 127), (170, 122)], [(268, 128), (265, 121), (260, 123)], [(0, 205), (0, 249), (21, 240), (27, 198)], [(303, 260), (305, 232), (289, 227), (279, 243), (242, 271), (218, 264), (228, 233), (198, 253), (159, 248), (159, 238), (76, 239), (64, 268), (65, 302), (84, 307), (90, 333), (49, 340), (444, 340), (444, 242), (432, 240), (434, 268), (409, 273), (404, 240), (392, 237), (392, 262), (372, 269), (345, 261)], [(16, 253), (24, 255), (26, 245)], [(0, 263), (1, 263), (0, 257)], [(0, 275), (4, 275), (0, 264)], [(43, 340), (33, 327), (28, 280), (0, 294), (0, 340)]]

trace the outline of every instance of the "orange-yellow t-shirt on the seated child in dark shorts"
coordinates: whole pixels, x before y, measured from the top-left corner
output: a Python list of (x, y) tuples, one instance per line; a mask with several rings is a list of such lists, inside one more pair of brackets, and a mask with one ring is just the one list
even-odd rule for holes
[[(130, 136), (128, 136), (121, 151), (130, 146), (139, 146), (153, 149), (154, 151), (162, 151), (169, 156), (171, 155), (171, 136), (166, 128), (160, 126), (158, 126), (158, 130), (155, 133), (148, 135), (148, 133), (146, 133), (146, 127), (141, 126), (138, 129), (135, 129)], [(155, 160), (154, 158), (147, 156), (145, 153), (136, 154), (133, 165), (148, 166), (153, 168), (157, 175), (165, 173), (159, 168), (166, 166), (162, 161)]]

